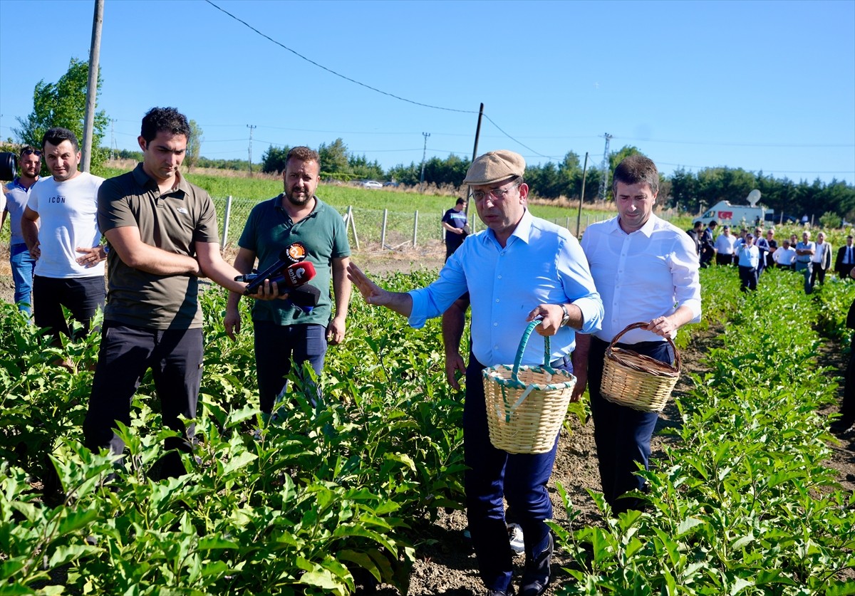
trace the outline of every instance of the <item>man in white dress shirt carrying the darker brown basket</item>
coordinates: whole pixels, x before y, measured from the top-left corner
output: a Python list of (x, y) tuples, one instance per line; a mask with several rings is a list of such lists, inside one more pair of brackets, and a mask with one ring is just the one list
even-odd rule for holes
[(639, 412), (604, 399), (599, 389), (605, 350), (629, 324), (646, 321), (645, 328), (629, 331), (617, 345), (670, 364), (674, 354), (665, 337), (698, 322), (701, 304), (693, 240), (653, 213), (659, 191), (656, 165), (644, 155), (631, 155), (616, 167), (612, 191), (617, 217), (589, 225), (581, 239), (604, 317), (602, 330), (576, 334), (573, 372), (578, 378), (574, 398), (581, 397), (586, 383), (591, 394), (603, 494), (618, 514), (643, 506), (638, 498), (621, 497), (645, 488), (635, 472), (639, 464), (649, 469), (658, 412)]

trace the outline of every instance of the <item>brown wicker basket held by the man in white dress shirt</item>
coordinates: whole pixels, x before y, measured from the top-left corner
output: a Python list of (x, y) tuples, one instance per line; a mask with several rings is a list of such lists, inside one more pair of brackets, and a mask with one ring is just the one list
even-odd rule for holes
[(606, 400), (628, 406), (641, 412), (661, 412), (680, 377), (680, 354), (670, 337), (666, 337), (674, 350), (674, 365), (636, 354), (632, 350), (616, 348), (617, 340), (627, 331), (646, 327), (646, 323), (633, 323), (618, 333), (605, 350), (603, 383), (599, 392)]

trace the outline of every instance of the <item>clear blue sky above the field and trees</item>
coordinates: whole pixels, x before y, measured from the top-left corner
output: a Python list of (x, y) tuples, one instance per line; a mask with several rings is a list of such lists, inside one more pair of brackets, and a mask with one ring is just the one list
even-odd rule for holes
[[(119, 149), (169, 105), (211, 158), (246, 159), (251, 131), (255, 163), (336, 137), (383, 167), (418, 163), (425, 132), (428, 157), (471, 157), (483, 102), (479, 154), (598, 166), (608, 132), (665, 173), (855, 181), (852, 0), (212, 2), (278, 44), (204, 0), (105, 1), (98, 108)], [(0, 0), (0, 137), (39, 80), (88, 60), (93, 9)]]

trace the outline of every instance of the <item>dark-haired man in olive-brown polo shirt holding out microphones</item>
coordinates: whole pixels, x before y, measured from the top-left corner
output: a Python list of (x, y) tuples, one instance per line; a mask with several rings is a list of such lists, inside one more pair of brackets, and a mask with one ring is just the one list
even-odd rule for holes
[[(109, 242), (108, 295), (101, 348), (83, 424), (86, 447), (121, 455), (116, 421), (129, 425), (131, 400), (150, 368), (163, 424), (181, 437), (170, 450), (189, 452), (193, 429), (179, 416), (196, 418), (202, 379), (202, 311), (198, 278), (233, 291), (245, 283), (220, 254), (214, 204), (178, 168), (190, 126), (175, 108), (145, 114), (139, 147), (144, 161), (133, 172), (104, 181), (98, 224)], [(268, 295), (271, 293), (268, 289)], [(185, 472), (180, 456), (162, 459), (161, 476)]]

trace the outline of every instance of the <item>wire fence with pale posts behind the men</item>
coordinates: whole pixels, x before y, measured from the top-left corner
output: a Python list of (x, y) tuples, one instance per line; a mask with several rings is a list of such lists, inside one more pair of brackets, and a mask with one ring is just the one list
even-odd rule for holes
[[(262, 199), (268, 201), (269, 199)], [(233, 196), (215, 197), (218, 224), (221, 230), (222, 248), (235, 248), (244, 230), (246, 219), (250, 215), (252, 207), (259, 201), (254, 199), (240, 199)], [(369, 209), (365, 207), (335, 207), (347, 225), (347, 236), (351, 242), (351, 249), (362, 248), (387, 250), (400, 250), (404, 248), (416, 248), (420, 242), (431, 240), (444, 240), (445, 228), (440, 223), (445, 212), (418, 211), (402, 212), (389, 211), (388, 209)], [(616, 213), (602, 212), (597, 214), (583, 213), (579, 221), (579, 232), (584, 231), (588, 225), (598, 221), (610, 219)], [(671, 219), (669, 213), (659, 213), (664, 219)], [(555, 225), (567, 228), (574, 234), (576, 231), (576, 218), (563, 217), (547, 219)], [(469, 226), (473, 233), (482, 230), (484, 224), (475, 212), (469, 213)]]

